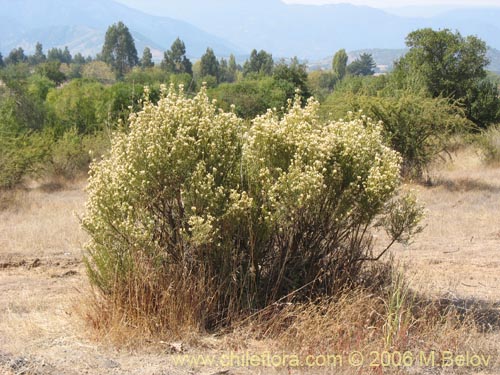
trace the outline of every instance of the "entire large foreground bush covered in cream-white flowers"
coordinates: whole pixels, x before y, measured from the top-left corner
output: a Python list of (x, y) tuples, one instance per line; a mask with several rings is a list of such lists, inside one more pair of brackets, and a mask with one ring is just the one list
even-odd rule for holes
[(400, 158), (382, 129), (323, 123), (318, 106), (297, 97), (247, 129), (205, 89), (146, 100), (91, 167), (83, 227), (101, 312), (150, 332), (215, 328), (356, 283), (375, 220), (407, 240), (421, 212), (394, 201)]

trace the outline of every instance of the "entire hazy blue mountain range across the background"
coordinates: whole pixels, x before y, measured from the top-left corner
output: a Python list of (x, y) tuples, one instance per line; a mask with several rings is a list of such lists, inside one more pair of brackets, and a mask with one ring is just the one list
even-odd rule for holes
[[(277, 58), (317, 61), (340, 48), (401, 50), (405, 36), (422, 27), (477, 35), (500, 49), (500, 7), (444, 10), (428, 17), (281, 0), (0, 0), (0, 7), (4, 56), (18, 46), (31, 52), (37, 41), (46, 49), (67, 45), (72, 53), (94, 55), (101, 50), (107, 27), (118, 21), (131, 30), (139, 55), (149, 46), (155, 59), (180, 37), (191, 58), (210, 46), (219, 56), (234, 53), (240, 60), (256, 48)], [(375, 60), (390, 65), (377, 56)]]

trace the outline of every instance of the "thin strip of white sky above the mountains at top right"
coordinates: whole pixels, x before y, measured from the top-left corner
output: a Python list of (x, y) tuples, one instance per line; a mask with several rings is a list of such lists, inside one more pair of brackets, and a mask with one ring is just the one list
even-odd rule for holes
[(368, 5), (374, 8), (390, 8), (404, 6), (496, 6), (500, 7), (500, 0), (284, 0), (284, 2), (300, 4), (336, 4), (351, 3)]

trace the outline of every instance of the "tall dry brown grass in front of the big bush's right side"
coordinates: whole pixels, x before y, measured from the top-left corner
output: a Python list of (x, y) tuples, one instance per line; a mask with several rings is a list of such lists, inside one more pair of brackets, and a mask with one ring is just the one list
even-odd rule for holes
[(242, 341), (273, 340), (279, 350), (301, 355), (359, 350), (459, 350), (477, 332), (452, 308), (418, 300), (402, 281), (381, 294), (365, 289), (308, 303), (284, 303), (257, 314), (236, 331)]

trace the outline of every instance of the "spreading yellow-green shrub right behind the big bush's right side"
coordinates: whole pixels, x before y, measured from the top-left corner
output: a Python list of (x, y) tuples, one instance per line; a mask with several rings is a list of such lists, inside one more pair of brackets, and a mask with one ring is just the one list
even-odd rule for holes
[(463, 111), (447, 99), (404, 93), (397, 97), (335, 93), (324, 111), (333, 118), (362, 111), (363, 116), (381, 121), (387, 141), (403, 157), (403, 175), (412, 178), (421, 178), (429, 163), (447, 150), (450, 136), (469, 126)]

